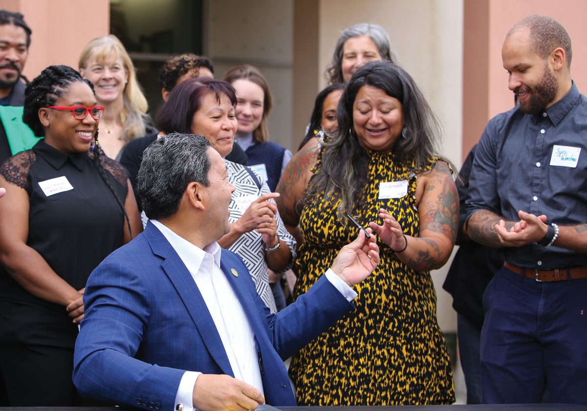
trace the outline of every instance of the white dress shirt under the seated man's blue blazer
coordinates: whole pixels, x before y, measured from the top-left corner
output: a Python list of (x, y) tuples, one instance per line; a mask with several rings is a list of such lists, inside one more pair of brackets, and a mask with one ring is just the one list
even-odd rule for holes
[[(194, 278), (220, 335), (235, 378), (258, 388), (263, 393), (255, 334), (237, 296), (234, 294), (234, 290), (220, 268), (222, 248), (214, 241), (201, 250), (159, 221), (150, 221), (169, 241)], [(348, 301), (352, 301), (357, 296), (355, 290), (350, 288), (331, 269), (326, 272), (326, 278), (342, 295), (345, 295)], [(183, 405), (183, 411), (193, 411), (194, 409), (194, 385), (200, 375), (201, 372), (186, 371), (181, 378), (176, 404)]]

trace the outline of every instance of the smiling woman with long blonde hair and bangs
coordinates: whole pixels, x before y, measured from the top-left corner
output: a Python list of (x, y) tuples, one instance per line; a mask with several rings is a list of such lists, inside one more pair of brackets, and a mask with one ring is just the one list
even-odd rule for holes
[(87, 43), (79, 57), (79, 71), (93, 83), (96, 99), (104, 107), (100, 146), (108, 157), (119, 160), (128, 142), (156, 132), (146, 114), (147, 99), (133, 62), (116, 36), (97, 37)]

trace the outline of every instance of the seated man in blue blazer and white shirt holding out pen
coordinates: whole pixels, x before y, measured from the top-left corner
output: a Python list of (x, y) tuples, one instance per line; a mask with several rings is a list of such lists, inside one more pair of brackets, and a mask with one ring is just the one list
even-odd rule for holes
[(146, 230), (92, 272), (73, 380), (85, 396), (167, 411), (295, 405), (283, 359), (353, 308), (350, 286), (379, 262), (375, 236), (346, 245), (295, 304), (270, 314), (228, 233), (234, 186), (203, 136), (144, 152)]

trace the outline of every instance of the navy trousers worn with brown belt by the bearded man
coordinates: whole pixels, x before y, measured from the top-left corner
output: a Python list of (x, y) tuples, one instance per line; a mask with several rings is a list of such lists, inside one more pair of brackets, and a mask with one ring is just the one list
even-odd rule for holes
[(587, 279), (538, 282), (502, 267), (483, 296), (484, 403), (587, 405)]

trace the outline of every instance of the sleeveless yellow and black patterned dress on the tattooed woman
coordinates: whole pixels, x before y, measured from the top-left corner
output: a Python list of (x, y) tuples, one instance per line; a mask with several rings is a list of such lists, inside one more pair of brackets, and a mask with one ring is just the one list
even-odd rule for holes
[[(392, 154), (369, 151), (369, 183), (353, 217), (367, 227), (386, 208), (406, 235), (416, 237), (416, 177)], [(427, 169), (433, 167), (430, 160)], [(423, 170), (426, 171), (426, 170)], [(379, 199), (379, 183), (408, 180), (402, 198)], [(294, 297), (308, 291), (357, 228), (336, 219), (334, 198), (306, 204), (300, 228), (306, 242), (295, 262)], [(454, 402), (453, 376), (436, 319), (436, 292), (427, 271), (414, 271), (379, 241), (381, 262), (355, 287), (356, 309), (292, 359), (299, 405), (425, 405)]]

